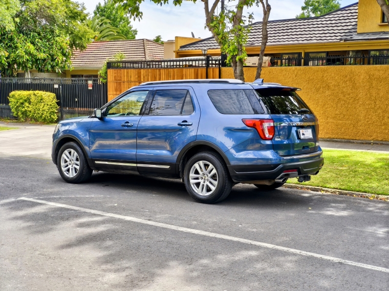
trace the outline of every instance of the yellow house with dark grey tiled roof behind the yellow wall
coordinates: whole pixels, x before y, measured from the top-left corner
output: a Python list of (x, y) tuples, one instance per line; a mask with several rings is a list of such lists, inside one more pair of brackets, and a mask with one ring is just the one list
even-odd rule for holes
[[(385, 21), (376, 0), (360, 0), (319, 17), (272, 20), (265, 56), (272, 57), (273, 66), (387, 64), (389, 26)], [(261, 39), (262, 22), (255, 22), (245, 46), (249, 57), (259, 55)], [(203, 48), (208, 55), (221, 54), (213, 37), (181, 45), (175, 54), (177, 58), (201, 56)]]

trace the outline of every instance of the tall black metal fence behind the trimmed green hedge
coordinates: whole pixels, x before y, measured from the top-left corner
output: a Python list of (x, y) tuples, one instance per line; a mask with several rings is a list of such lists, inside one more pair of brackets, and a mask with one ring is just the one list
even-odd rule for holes
[(107, 85), (101, 83), (98, 78), (1, 78), (0, 117), (12, 118), (7, 113), (8, 96), (16, 90), (55, 93), (59, 106), (59, 120), (91, 115), (94, 108), (100, 108), (108, 102)]

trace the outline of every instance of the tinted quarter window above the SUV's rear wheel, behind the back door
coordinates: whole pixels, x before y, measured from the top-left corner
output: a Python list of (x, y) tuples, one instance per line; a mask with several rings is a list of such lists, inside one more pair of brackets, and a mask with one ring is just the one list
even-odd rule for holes
[(209, 90), (215, 108), (223, 114), (254, 114), (244, 90)]

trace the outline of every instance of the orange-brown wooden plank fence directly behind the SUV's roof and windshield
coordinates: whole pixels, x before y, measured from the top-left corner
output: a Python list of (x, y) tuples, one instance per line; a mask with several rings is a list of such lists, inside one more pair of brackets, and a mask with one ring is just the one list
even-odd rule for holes
[[(108, 101), (131, 87), (149, 81), (206, 79), (205, 67), (108, 69)], [(219, 79), (219, 67), (208, 68), (208, 79)]]

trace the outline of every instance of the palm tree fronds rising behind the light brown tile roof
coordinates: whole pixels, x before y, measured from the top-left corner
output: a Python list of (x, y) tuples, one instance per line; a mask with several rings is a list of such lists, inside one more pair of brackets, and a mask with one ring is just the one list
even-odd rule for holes
[(95, 32), (94, 41), (126, 39), (105, 17), (95, 15), (85, 20), (85, 24)]

